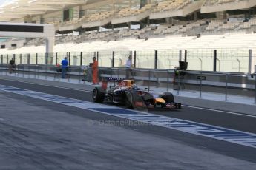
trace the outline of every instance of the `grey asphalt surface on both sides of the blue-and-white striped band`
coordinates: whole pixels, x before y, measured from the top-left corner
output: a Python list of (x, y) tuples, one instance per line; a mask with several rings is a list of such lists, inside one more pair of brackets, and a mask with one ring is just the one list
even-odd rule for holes
[[(91, 92), (4, 80), (0, 84), (91, 101)], [(0, 169), (256, 167), (256, 149), (246, 146), (158, 126), (102, 126), (100, 120), (123, 119), (6, 92), (0, 95)], [(253, 117), (188, 107), (151, 112), (256, 133)]]

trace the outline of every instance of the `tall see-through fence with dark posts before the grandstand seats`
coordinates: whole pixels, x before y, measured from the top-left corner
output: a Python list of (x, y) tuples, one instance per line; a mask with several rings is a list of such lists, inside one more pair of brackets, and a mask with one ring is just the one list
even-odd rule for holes
[(19, 53), (1, 54), (0, 64), (9, 64), (10, 58), (16, 64), (59, 64), (64, 57), (68, 58), (70, 66), (89, 65), (93, 57), (99, 61), (101, 67), (124, 66), (124, 61), (133, 55), (136, 68), (174, 69), (180, 61), (188, 61), (188, 69), (227, 71), (227, 72), (255, 72), (255, 49), (249, 48), (186, 48), (163, 50), (99, 50), (54, 53)]

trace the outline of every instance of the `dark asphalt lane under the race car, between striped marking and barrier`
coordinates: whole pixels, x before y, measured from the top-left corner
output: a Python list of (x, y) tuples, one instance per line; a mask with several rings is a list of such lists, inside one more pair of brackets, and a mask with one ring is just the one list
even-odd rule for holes
[[(59, 95), (68, 98), (75, 98), (82, 101), (92, 101), (91, 92), (75, 90), (75, 89), (64, 89), (53, 86), (44, 86), (39, 84), (29, 84), (19, 81), (9, 81), (0, 79), (0, 84), (6, 86), (14, 86), (22, 89), (30, 89), (37, 92), (45, 92), (52, 95)], [(111, 103), (105, 103), (111, 104)], [(119, 106), (116, 104), (111, 104)], [(122, 107), (122, 106), (119, 106)], [(197, 109), (183, 106), (183, 109), (163, 110), (153, 109), (149, 112), (164, 115), (171, 118), (180, 118), (183, 120), (191, 120), (198, 123), (206, 123), (209, 125), (225, 127), (229, 129), (240, 130), (243, 132), (256, 133), (256, 117), (246, 115), (233, 115), (227, 112), (218, 112), (214, 110)]]

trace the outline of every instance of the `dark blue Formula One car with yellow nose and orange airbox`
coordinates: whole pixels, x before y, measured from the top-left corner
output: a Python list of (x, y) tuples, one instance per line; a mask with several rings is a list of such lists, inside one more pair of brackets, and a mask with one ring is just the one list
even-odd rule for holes
[(130, 109), (181, 108), (180, 103), (174, 102), (174, 95), (171, 92), (164, 92), (162, 95), (157, 95), (149, 90), (138, 88), (133, 80), (120, 81), (116, 86), (110, 86), (108, 90), (106, 87), (95, 87), (93, 89), (93, 101), (96, 103), (110, 101), (112, 103), (125, 104)]

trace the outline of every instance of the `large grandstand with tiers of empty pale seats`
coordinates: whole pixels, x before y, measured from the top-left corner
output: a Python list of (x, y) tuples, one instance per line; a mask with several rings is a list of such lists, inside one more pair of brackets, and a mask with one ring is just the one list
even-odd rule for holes
[[(157, 68), (174, 69), (186, 50), (188, 69), (212, 71), (217, 50), (217, 71), (249, 72), (249, 50), (256, 61), (255, 6), (251, 0), (19, 0), (2, 7), (0, 21), (54, 24), (57, 60), (70, 52), (74, 65), (81, 52), (85, 65), (98, 52), (99, 65), (111, 67), (114, 51), (114, 67), (122, 67), (136, 51), (137, 67), (154, 68), (157, 50)], [(33, 52), (30, 64), (45, 53), (43, 38), (0, 44), (1, 58)]]

